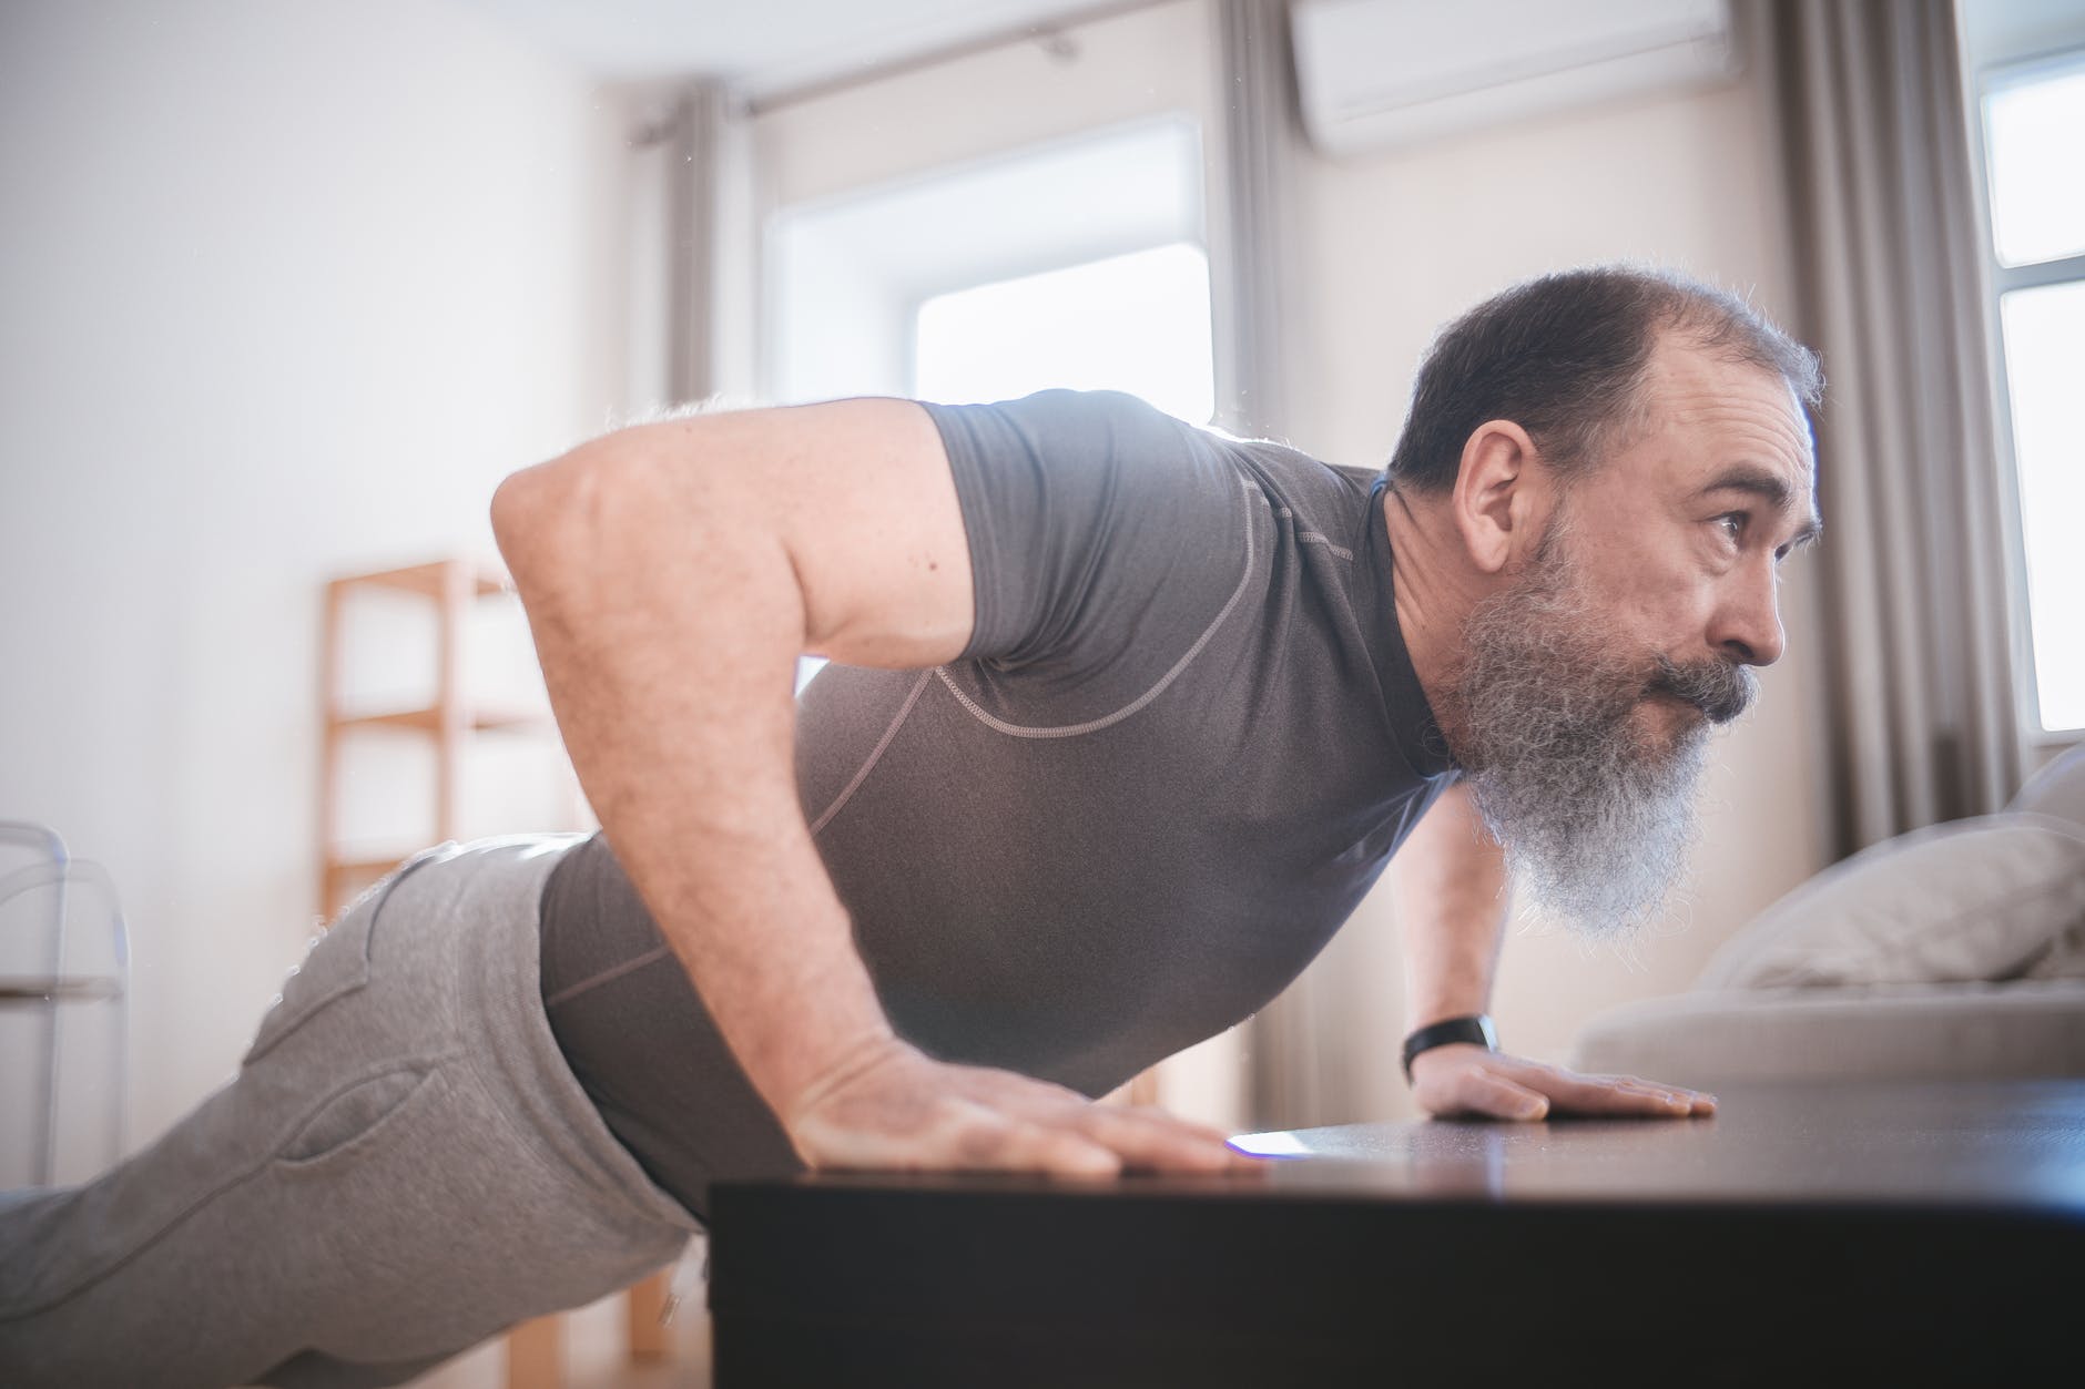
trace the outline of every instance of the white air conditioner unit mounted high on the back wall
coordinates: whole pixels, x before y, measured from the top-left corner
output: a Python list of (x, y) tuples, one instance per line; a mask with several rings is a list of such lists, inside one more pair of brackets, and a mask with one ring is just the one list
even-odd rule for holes
[(1326, 154), (1737, 75), (1728, 0), (1293, 0), (1303, 125)]

